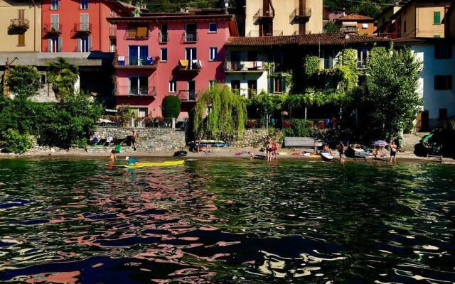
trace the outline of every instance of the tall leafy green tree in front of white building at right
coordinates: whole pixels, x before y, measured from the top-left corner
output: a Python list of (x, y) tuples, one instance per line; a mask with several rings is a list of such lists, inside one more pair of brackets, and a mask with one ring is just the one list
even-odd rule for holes
[(360, 124), (368, 139), (396, 138), (414, 121), (422, 100), (419, 62), (409, 48), (377, 47), (368, 57), (366, 87), (356, 92)]

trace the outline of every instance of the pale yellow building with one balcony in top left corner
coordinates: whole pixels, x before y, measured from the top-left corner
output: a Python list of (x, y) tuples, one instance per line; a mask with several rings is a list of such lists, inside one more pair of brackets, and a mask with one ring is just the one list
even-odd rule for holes
[(41, 51), (40, 2), (0, 0), (0, 52)]

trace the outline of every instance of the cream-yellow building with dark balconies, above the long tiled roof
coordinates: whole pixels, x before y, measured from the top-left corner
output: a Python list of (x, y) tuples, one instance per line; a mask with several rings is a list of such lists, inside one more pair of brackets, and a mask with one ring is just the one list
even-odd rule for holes
[(245, 35), (322, 33), (321, 0), (246, 0)]

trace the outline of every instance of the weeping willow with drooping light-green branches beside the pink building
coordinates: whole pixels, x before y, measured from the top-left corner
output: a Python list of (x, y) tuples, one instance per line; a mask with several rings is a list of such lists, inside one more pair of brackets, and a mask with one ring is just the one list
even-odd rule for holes
[(215, 84), (199, 95), (193, 130), (198, 138), (233, 139), (242, 136), (246, 121), (245, 98)]

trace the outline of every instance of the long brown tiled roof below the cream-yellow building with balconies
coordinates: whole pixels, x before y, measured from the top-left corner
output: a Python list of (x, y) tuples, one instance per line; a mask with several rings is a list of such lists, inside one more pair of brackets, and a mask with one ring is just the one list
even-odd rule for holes
[(310, 35), (262, 36), (254, 38), (231, 37), (228, 46), (270, 46), (270, 45), (346, 45), (355, 43), (386, 43), (389, 38), (367, 35), (346, 36), (345, 33), (315, 33)]

